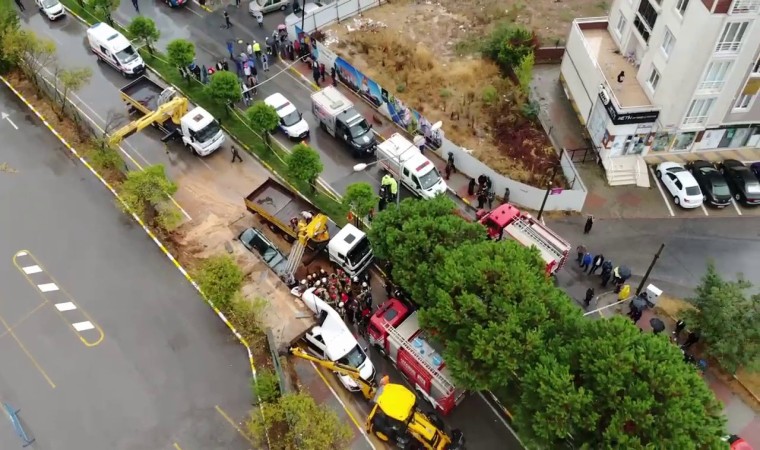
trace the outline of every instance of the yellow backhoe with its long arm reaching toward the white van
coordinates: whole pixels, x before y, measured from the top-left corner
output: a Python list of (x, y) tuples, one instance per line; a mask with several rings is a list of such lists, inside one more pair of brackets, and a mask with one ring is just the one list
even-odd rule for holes
[(452, 430), (449, 436), (437, 416), (417, 408), (417, 396), (406, 386), (367, 382), (356, 368), (312, 356), (300, 347), (291, 347), (289, 353), (356, 381), (364, 398), (374, 404), (366, 430), (378, 439), (404, 450), (465, 450), (462, 432)]

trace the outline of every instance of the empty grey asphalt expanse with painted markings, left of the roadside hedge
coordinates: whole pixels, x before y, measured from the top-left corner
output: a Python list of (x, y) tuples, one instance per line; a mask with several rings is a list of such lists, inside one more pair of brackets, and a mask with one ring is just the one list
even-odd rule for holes
[(250, 409), (243, 347), (5, 87), (0, 112), (0, 400), (33, 448), (250, 448), (217, 410)]

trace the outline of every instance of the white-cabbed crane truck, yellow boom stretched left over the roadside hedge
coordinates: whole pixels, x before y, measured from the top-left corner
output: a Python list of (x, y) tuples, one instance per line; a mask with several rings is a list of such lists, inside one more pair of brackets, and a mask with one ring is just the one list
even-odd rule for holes
[(200, 106), (190, 109), (189, 101), (173, 87), (161, 87), (143, 75), (121, 88), (120, 95), (129, 115), (139, 117), (113, 132), (109, 138), (112, 144), (149, 125), (165, 133), (163, 142), (180, 137), (198, 156), (210, 155), (225, 141), (214, 116)]

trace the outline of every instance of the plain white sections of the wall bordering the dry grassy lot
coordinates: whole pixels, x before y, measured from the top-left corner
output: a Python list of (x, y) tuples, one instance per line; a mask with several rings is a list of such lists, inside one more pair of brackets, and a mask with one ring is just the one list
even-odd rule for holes
[[(334, 52), (325, 48), (325, 46), (319, 42), (317, 42), (317, 55), (319, 62), (324, 64), (325, 67), (332, 67), (333, 64), (337, 62), (341, 65), (341, 70), (346, 70), (347, 65), (349, 64), (348, 61), (337, 57)], [(350, 70), (353, 70), (356, 73), (356, 79), (364, 77), (364, 75), (355, 68), (350, 68)], [(368, 84), (376, 85), (374, 81), (370, 81)], [(382, 87), (377, 85), (377, 87), (373, 87), (373, 89), (379, 91), (382, 89)], [(399, 124), (398, 117), (392, 117), (389, 114), (389, 109), (387, 107), (381, 106), (377, 109), (377, 111), (379, 111), (383, 116), (393, 121), (397, 125)], [(413, 110), (411, 110), (411, 112), (413, 115), (419, 114)], [(422, 120), (419, 120), (418, 123), (421, 121)], [(493, 181), (493, 188), (497, 196), (501, 197), (504, 195), (505, 189), (509, 188), (510, 201), (531, 209), (541, 208), (541, 202), (543, 201), (544, 194), (546, 192), (545, 189), (529, 186), (498, 174), (486, 164), (482, 163), (477, 158), (470, 155), (467, 151), (449, 141), (445, 137), (443, 137), (442, 141), (443, 145), (441, 148), (436, 150), (436, 153), (443, 160), (446, 160), (448, 158), (449, 152), (451, 152), (454, 155), (454, 165), (460, 173), (470, 178), (477, 178), (482, 174), (488, 175)], [(557, 148), (556, 145), (555, 148)], [(575, 167), (567, 155), (563, 156), (562, 158), (561, 168), (568, 182), (573, 182), (575, 180), (573, 189), (564, 190), (556, 195), (550, 195), (544, 209), (547, 211), (580, 211), (583, 208), (583, 203), (586, 201), (585, 186), (583, 185), (583, 182), (580, 181), (580, 177), (578, 176), (577, 171), (575, 171)]]

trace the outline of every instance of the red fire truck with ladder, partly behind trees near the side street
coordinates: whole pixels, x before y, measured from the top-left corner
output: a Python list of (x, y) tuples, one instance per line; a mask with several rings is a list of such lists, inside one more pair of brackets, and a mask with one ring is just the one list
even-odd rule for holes
[(495, 240), (513, 239), (526, 247), (536, 247), (546, 262), (546, 273), (555, 274), (567, 261), (570, 244), (546, 225), (505, 203), (491, 211), (480, 210), (477, 220)]

